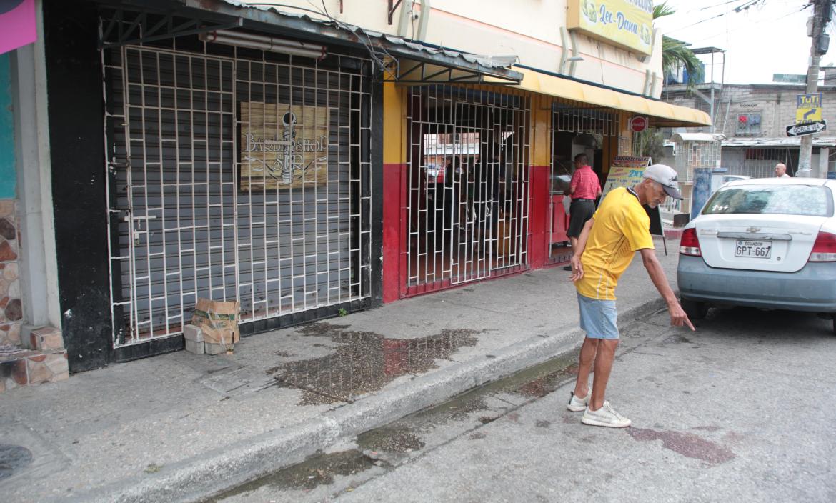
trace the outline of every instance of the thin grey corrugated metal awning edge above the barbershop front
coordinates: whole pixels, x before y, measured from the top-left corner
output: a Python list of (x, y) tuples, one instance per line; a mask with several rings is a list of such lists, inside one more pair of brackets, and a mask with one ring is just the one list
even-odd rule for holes
[(359, 26), (354, 26), (353, 24), (337, 22), (335, 20), (327, 19), (327, 18), (313, 18), (308, 14), (300, 14), (300, 13), (288, 13), (286, 11), (282, 11), (278, 9), (278, 6), (273, 5), (249, 5), (246, 2), (241, 2), (240, 0), (219, 0), (222, 3), (228, 3), (232, 6), (237, 8), (252, 8), (257, 9), (260, 11), (268, 11), (272, 13), (277, 13), (279, 16), (285, 18), (294, 18), (294, 19), (301, 19), (303, 21), (309, 23), (317, 23), (323, 26), (329, 26), (334, 28), (343, 28), (349, 30), (354, 35), (361, 35), (365, 37), (375, 38), (378, 40), (385, 40), (388, 43), (394, 44), (395, 46), (403, 46), (406, 48), (410, 48), (413, 51), (421, 51), (426, 53), (427, 56), (435, 56), (435, 55), (444, 55), (448, 58), (461, 58), (463, 61), (466, 61), (469, 64), (478, 64), (483, 66), (487, 69), (509, 69), (512, 64), (517, 61), (517, 56), (483, 56), (479, 54), (472, 54), (472, 53), (462, 53), (459, 51), (452, 51), (446, 48), (436, 48), (424, 45), (423, 43), (416, 43), (406, 38), (398, 37), (395, 35), (390, 35), (389, 33), (380, 33), (375, 32), (372, 30), (360, 28)]

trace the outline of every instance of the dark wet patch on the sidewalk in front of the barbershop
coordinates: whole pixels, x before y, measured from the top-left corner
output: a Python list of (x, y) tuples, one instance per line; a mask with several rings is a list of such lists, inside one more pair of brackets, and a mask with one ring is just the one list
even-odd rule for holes
[[(299, 333), (329, 337), (337, 347), (321, 358), (285, 363), (268, 370), (283, 388), (303, 390), (300, 405), (352, 402), (406, 373), (437, 368), (463, 346), (475, 346), (476, 330), (443, 330), (425, 338), (393, 339), (374, 332), (346, 330), (349, 325), (311, 323)], [(317, 344), (314, 344), (317, 345)]]

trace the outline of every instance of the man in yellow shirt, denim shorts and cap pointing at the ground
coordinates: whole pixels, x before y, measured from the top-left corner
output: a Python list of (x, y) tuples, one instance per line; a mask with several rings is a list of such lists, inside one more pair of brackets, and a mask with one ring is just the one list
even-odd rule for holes
[[(578, 290), (580, 327), (586, 332), (586, 338), (580, 350), (578, 380), (567, 409), (583, 410), (584, 424), (610, 428), (630, 426), (630, 419), (615, 412), (604, 400), (604, 391), (619, 344), (615, 287), (635, 252), (640, 252), (650, 281), (668, 304), (671, 326), (687, 325), (694, 330), (656, 258), (650, 237), (650, 217), (642, 207), (655, 208), (667, 196), (682, 199), (676, 171), (666, 165), (651, 165), (639, 185), (610, 191), (578, 238), (572, 257), (572, 281)], [(594, 380), (589, 389), (593, 362)]]

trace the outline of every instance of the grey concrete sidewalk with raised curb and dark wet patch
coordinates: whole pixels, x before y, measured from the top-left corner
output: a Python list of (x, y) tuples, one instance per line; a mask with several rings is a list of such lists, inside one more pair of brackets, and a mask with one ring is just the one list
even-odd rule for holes
[[(667, 257), (675, 281), (676, 244)], [(664, 307), (638, 257), (621, 323)], [(560, 267), (243, 338), (0, 395), (0, 444), (31, 464), (0, 481), (9, 501), (200, 500), (297, 463), (466, 389), (579, 345)]]

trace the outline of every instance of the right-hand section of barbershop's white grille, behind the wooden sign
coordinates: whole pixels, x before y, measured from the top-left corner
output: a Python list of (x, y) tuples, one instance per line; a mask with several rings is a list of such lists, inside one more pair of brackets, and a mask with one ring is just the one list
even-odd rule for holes
[[(357, 69), (351, 63), (324, 70), (237, 62), (239, 129), (275, 132), (295, 145), (273, 148), (272, 175), (257, 149), (240, 148), (239, 172), (248, 165), (255, 175), (237, 199), (245, 320), (370, 295), (370, 82), (346, 71)], [(285, 188), (271, 176), (293, 181)]]

